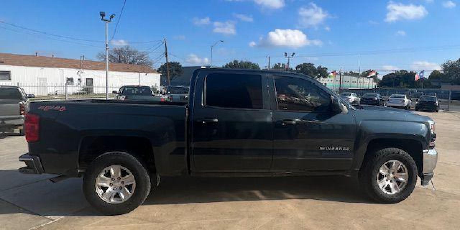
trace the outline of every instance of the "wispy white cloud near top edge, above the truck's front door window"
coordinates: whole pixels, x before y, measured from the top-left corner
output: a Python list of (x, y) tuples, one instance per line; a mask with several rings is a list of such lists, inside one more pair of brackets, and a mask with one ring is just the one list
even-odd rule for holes
[(299, 9), (299, 26), (305, 28), (317, 27), (328, 17), (330, 16), (327, 11), (311, 2), (308, 6), (300, 7)]

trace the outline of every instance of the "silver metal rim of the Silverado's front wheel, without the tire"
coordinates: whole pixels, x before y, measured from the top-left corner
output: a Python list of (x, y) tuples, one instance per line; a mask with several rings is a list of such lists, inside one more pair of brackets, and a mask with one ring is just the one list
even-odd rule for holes
[(401, 161), (386, 161), (377, 173), (377, 184), (386, 194), (397, 194), (407, 185), (409, 174), (407, 167)]

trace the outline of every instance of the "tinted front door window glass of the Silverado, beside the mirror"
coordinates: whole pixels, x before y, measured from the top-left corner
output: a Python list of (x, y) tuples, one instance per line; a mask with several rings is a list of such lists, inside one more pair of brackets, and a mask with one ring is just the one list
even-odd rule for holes
[(300, 78), (275, 77), (279, 110), (328, 111), (331, 96), (318, 86)]

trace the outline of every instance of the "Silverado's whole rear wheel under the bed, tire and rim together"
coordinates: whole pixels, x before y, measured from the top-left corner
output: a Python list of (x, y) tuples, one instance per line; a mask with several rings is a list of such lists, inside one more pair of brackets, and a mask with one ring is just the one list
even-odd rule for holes
[(109, 215), (129, 213), (150, 193), (147, 169), (134, 156), (114, 151), (99, 156), (83, 178), (86, 200)]

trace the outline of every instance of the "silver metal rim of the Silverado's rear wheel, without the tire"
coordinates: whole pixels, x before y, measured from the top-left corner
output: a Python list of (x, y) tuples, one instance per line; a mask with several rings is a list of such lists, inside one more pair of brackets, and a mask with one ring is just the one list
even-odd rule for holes
[(136, 179), (126, 167), (112, 165), (98, 174), (95, 189), (103, 201), (120, 204), (131, 198), (136, 189)]

